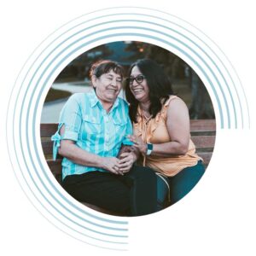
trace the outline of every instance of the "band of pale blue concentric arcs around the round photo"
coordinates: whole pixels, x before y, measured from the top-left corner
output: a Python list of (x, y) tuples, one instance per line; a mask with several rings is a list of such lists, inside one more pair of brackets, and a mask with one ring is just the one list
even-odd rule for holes
[[(154, 9), (102, 9), (68, 22), (32, 53), (9, 99), (9, 156), (21, 188), (39, 212), (68, 235), (96, 247), (127, 250), (129, 219), (103, 215), (75, 201), (52, 176), (40, 123), (49, 88), (68, 63), (102, 44), (137, 41), (177, 55), (198, 74), (218, 129), (250, 126), (247, 99), (224, 53), (195, 26)], [(217, 131), (218, 132), (218, 131)]]

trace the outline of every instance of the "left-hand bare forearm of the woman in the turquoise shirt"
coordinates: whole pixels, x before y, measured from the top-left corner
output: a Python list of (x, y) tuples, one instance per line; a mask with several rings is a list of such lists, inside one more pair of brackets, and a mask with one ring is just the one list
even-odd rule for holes
[(81, 166), (95, 166), (102, 168), (102, 157), (91, 154), (84, 149), (79, 148), (76, 144), (61, 142), (59, 154)]

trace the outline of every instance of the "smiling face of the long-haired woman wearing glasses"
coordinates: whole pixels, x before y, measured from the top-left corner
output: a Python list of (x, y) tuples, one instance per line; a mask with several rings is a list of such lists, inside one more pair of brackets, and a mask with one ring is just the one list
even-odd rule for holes
[[(138, 102), (148, 102), (149, 90), (147, 80), (145, 79), (143, 73), (141, 73), (137, 66), (131, 69), (130, 79), (131, 83), (129, 86), (133, 96), (137, 99)], [(141, 80), (143, 81), (141, 82)]]

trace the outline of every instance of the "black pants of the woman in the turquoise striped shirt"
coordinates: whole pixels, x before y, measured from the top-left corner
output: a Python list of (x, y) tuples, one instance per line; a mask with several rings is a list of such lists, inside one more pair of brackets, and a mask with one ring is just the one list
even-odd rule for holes
[(157, 211), (156, 175), (147, 167), (133, 166), (124, 176), (110, 172), (69, 175), (62, 186), (76, 200), (109, 211), (128, 216)]

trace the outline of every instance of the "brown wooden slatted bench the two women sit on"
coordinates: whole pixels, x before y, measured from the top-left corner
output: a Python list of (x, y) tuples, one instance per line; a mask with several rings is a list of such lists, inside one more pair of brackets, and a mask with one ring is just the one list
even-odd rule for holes
[[(47, 161), (50, 171), (54, 177), (61, 183), (61, 161), (62, 157), (58, 154), (57, 159), (52, 159), (53, 143), (50, 137), (57, 131), (58, 124), (41, 124), (41, 142), (44, 151), (44, 157)], [(195, 143), (196, 152), (204, 160), (204, 165), (207, 167), (211, 158), (216, 136), (215, 119), (193, 119), (190, 120), (191, 139)], [(85, 206), (90, 207), (98, 212), (107, 213), (111, 215), (118, 215), (114, 212), (109, 212), (100, 207), (92, 206), (88, 203), (82, 202)]]

